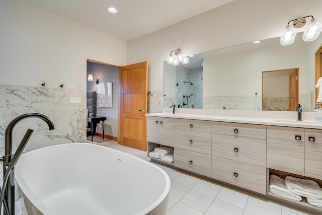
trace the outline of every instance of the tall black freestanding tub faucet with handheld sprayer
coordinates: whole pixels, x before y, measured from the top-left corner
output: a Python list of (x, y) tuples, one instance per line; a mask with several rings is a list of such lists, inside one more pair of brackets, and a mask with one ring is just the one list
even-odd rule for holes
[[(1, 190), (0, 194), (0, 204), (4, 202), (4, 208), (6, 211), (6, 214), (15, 214), (15, 169), (14, 166), (17, 164), (18, 159), (23, 153), (23, 150), (25, 149), (27, 142), (29, 138), (31, 137), (34, 130), (28, 129), (25, 136), (21, 140), (15, 154), (12, 154), (12, 134), (13, 130), (23, 119), (26, 118), (40, 118), (44, 120), (49, 130), (55, 129), (54, 123), (49, 119), (47, 116), (40, 114), (40, 113), (27, 113), (23, 114), (21, 116), (16, 117), (13, 119), (7, 126), (5, 131), (5, 155), (1, 159), (4, 162), (4, 186)], [(8, 183), (8, 186), (7, 186)], [(5, 195), (6, 194), (6, 195)], [(1, 210), (1, 206), (0, 206)]]

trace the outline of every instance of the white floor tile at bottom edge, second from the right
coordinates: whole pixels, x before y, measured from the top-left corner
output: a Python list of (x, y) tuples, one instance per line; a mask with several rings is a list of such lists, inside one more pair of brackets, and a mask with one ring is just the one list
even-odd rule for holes
[(281, 215), (282, 206), (270, 201), (263, 201), (253, 196), (248, 197), (244, 215)]

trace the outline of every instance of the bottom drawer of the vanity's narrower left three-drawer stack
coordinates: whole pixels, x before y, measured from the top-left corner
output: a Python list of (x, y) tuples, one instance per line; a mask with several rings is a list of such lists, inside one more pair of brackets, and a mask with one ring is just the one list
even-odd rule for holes
[(175, 167), (211, 177), (211, 156), (176, 148)]

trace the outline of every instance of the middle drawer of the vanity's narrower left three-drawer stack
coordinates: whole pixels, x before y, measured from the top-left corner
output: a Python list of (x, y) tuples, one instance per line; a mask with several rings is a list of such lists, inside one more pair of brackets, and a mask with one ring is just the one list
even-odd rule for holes
[(211, 155), (211, 133), (175, 129), (175, 147)]

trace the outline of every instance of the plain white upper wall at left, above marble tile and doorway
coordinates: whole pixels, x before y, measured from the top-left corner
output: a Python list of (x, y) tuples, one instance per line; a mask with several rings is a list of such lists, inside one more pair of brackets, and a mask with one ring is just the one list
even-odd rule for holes
[(20, 0), (0, 1), (0, 84), (86, 90), (87, 58), (125, 65), (126, 42)]

